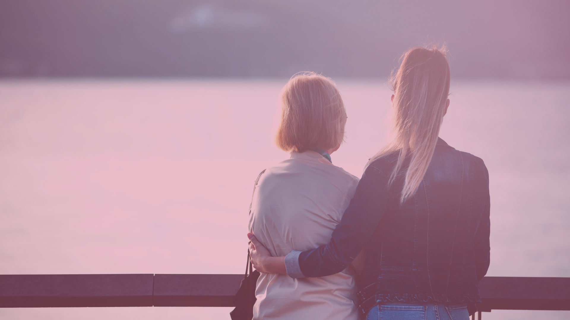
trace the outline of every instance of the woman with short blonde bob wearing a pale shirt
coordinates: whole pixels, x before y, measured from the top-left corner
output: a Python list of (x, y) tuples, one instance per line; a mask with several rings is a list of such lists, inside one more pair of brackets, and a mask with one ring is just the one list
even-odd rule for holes
[[(300, 73), (281, 95), (276, 144), (291, 158), (260, 175), (250, 232), (275, 256), (327, 244), (354, 195), (358, 178), (332, 164), (343, 142), (346, 112), (331, 79)], [(315, 278), (261, 273), (253, 319), (357, 320), (351, 268)]]

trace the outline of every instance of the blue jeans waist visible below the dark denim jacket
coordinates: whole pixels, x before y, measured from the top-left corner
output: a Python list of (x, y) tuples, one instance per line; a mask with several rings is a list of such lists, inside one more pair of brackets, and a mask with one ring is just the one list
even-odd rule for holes
[(386, 302), (368, 312), (366, 320), (469, 320), (465, 303)]

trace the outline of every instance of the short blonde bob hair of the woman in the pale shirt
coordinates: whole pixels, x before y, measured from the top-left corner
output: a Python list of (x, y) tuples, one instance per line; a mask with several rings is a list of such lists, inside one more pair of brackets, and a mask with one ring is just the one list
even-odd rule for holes
[(284, 151), (328, 150), (344, 141), (347, 112), (331, 79), (297, 73), (283, 88), (281, 101), (275, 143)]

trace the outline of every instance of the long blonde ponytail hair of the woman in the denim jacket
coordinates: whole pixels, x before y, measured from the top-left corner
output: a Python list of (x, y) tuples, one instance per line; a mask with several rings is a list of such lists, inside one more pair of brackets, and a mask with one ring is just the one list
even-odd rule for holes
[(392, 79), (396, 136), (370, 159), (372, 162), (400, 151), (391, 183), (403, 169), (406, 157), (410, 157), (401, 202), (416, 192), (429, 166), (446, 112), (449, 86), (450, 69), (445, 49), (414, 47), (404, 52), (402, 64)]

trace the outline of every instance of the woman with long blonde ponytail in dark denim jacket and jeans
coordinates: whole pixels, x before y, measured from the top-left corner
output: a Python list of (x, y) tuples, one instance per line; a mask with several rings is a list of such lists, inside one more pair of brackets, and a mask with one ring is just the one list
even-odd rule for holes
[(368, 320), (467, 319), (489, 266), (487, 169), (438, 137), (449, 106), (445, 50), (406, 51), (392, 85), (394, 140), (367, 163), (331, 241), (272, 257), (250, 233), (251, 259), (261, 272), (305, 278), (335, 274), (361, 253)]

